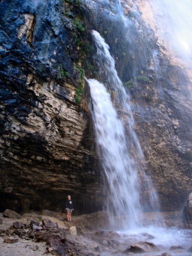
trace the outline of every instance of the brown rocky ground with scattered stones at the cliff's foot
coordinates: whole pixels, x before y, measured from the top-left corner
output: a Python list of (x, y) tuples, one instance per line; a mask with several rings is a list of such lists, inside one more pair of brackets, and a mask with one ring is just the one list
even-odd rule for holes
[[(176, 243), (162, 251), (151, 242), (154, 237), (149, 233), (142, 233), (142, 240), (139, 241), (135, 235), (104, 231), (108, 224), (104, 211), (73, 215), (72, 222), (66, 221), (65, 213), (49, 210), (43, 210), (41, 214), (24, 213), (22, 216), (11, 210), (0, 214), (0, 256), (109, 256), (135, 253), (144, 256), (188, 256), (192, 253), (191, 247), (182, 254), (184, 248)], [(175, 219), (171, 220), (171, 213), (166, 215), (167, 224), (176, 223)]]

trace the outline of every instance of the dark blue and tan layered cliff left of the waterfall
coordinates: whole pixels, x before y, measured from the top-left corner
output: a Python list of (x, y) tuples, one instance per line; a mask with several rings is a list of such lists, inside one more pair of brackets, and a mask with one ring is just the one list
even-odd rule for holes
[(76, 209), (95, 208), (91, 125), (86, 104), (75, 100), (83, 73), (76, 24), (58, 0), (0, 5), (0, 208), (63, 210), (67, 193)]

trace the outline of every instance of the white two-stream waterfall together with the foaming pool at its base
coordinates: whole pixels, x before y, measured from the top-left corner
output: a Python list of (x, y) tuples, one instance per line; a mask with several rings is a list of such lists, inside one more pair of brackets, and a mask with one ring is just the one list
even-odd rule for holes
[[(116, 4), (119, 8), (118, 1)], [(120, 8), (119, 11), (126, 27), (126, 18), (122, 17)], [(110, 227), (123, 234), (122, 240), (147, 240), (143, 235), (146, 232), (153, 235), (152, 242), (160, 248), (159, 253), (168, 251), (171, 246), (181, 246), (179, 250), (172, 250), (171, 255), (191, 255), (187, 251), (191, 245), (189, 230), (165, 227), (162, 217), (157, 213), (155, 219), (158, 219), (158, 223), (143, 220), (144, 212), (149, 209), (159, 210), (157, 195), (152, 189), (150, 178), (143, 171), (144, 157), (134, 131), (129, 95), (118, 77), (109, 46), (97, 31), (92, 30), (92, 36), (97, 49), (95, 61), (100, 68), (100, 81), (86, 80), (90, 87), (90, 110), (106, 186), (103, 206)], [(143, 180), (145, 185), (141, 185)], [(145, 190), (149, 191), (147, 198), (142, 196)], [(111, 255), (111, 252), (101, 252), (101, 255)], [(154, 252), (147, 255), (154, 255)]]

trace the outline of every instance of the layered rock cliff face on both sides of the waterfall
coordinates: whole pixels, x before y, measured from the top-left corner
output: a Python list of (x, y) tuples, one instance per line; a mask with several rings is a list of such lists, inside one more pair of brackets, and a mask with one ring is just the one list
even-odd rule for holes
[(192, 187), (190, 76), (170, 61), (139, 3), (140, 10), (122, 1), (129, 19), (124, 30), (117, 6), (107, 0), (0, 2), (1, 209), (63, 210), (67, 193), (79, 211), (100, 208), (82, 81), (83, 68), (99, 80), (90, 29), (109, 44), (130, 94), (145, 171), (162, 209), (182, 207)]

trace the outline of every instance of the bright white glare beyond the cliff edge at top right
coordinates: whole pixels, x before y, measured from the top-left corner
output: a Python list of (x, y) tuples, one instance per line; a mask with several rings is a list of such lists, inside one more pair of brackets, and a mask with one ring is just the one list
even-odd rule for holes
[[(157, 23), (157, 33), (170, 49), (192, 63), (192, 5), (191, 0), (151, 0)], [(187, 63), (186, 62), (186, 63)]]

